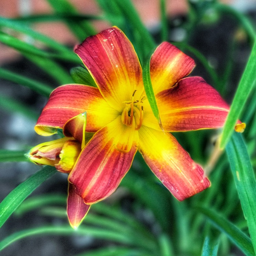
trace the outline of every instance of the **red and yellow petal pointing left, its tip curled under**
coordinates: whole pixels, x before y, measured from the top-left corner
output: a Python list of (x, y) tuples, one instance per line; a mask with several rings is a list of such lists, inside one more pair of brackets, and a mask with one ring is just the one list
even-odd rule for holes
[(98, 88), (78, 84), (63, 85), (52, 92), (35, 131), (43, 136), (52, 135), (70, 118), (84, 112), (87, 113), (86, 129), (89, 132), (104, 127), (118, 114), (104, 100)]

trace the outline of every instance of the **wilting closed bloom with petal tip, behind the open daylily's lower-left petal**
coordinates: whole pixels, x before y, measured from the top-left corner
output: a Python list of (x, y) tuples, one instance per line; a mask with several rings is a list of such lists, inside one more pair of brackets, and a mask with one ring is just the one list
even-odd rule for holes
[[(37, 165), (54, 166), (57, 171), (70, 173), (81, 152), (81, 143), (72, 138), (61, 138), (41, 143), (31, 148), (28, 158)], [(67, 214), (70, 225), (77, 228), (83, 221), (90, 206), (75, 193), (75, 187), (69, 183)]]

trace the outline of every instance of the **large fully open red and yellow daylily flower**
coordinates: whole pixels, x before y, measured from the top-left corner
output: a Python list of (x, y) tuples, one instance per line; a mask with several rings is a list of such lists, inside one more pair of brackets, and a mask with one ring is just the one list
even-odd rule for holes
[[(87, 113), (86, 132), (94, 135), (69, 174), (75, 193), (87, 205), (111, 195), (137, 150), (178, 200), (209, 187), (202, 168), (169, 133), (222, 127), (229, 112), (201, 77), (186, 77), (194, 60), (168, 42), (153, 53), (150, 73), (160, 127), (145, 94), (139, 59), (122, 31), (113, 27), (89, 37), (75, 53), (97, 88), (82, 84), (56, 88), (35, 126), (43, 136), (61, 128), (65, 136), (82, 143), (85, 131), (79, 114)], [(237, 125), (238, 130), (241, 127)]]

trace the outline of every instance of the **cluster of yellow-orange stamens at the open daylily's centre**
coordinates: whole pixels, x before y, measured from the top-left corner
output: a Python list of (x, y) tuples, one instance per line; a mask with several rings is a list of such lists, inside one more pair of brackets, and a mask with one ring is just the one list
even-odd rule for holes
[(126, 107), (123, 110), (121, 120), (124, 125), (131, 126), (134, 127), (135, 130), (139, 130), (143, 121), (144, 110), (142, 100), (145, 98), (145, 96), (143, 96), (140, 100), (134, 101), (133, 97), (135, 93), (136, 91), (134, 91), (132, 94), (131, 101), (124, 102)]

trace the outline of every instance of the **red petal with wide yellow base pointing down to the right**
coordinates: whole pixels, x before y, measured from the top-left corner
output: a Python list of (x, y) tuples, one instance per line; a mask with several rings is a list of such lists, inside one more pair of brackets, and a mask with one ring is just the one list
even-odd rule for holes
[(142, 126), (139, 151), (162, 184), (180, 201), (210, 186), (202, 168), (168, 132)]

